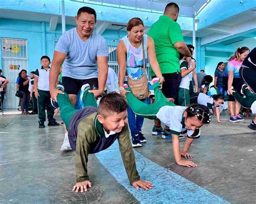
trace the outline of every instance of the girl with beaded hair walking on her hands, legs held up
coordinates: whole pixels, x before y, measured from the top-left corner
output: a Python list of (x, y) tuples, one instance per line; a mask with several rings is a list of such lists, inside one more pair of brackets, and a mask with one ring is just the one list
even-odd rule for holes
[[(193, 140), (200, 137), (200, 127), (210, 123), (211, 116), (209, 110), (206, 106), (199, 104), (192, 104), (188, 107), (174, 105), (159, 90), (160, 85), (158, 81), (158, 78), (151, 80), (156, 103), (146, 105), (134, 97), (132, 92), (126, 93), (126, 99), (135, 114), (143, 118), (159, 119), (166, 126), (170, 127), (169, 134), (172, 137), (174, 157), (178, 165), (196, 167), (197, 165), (194, 162), (181, 159), (181, 157), (193, 157), (188, 153), (188, 149)], [(131, 91), (127, 85), (124, 88), (127, 91)], [(187, 133), (187, 138), (183, 150), (180, 152), (179, 135), (185, 132)]]

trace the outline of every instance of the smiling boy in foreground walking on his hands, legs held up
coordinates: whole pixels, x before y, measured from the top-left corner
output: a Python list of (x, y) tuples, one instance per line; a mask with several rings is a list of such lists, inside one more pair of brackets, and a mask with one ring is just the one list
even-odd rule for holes
[[(62, 85), (57, 89), (64, 91)], [(106, 94), (100, 100), (99, 107), (95, 96), (90, 93), (90, 85), (85, 84), (81, 88), (81, 97), (84, 103), (82, 110), (72, 106), (67, 93), (58, 94), (57, 101), (62, 117), (68, 131), (72, 149), (76, 150), (76, 180), (73, 191), (87, 191), (91, 187), (87, 175), (88, 154), (94, 154), (110, 147), (118, 140), (119, 149), (130, 184), (134, 188), (153, 187), (149, 181), (140, 179), (136, 169), (134, 153), (130, 140), (130, 132), (127, 126), (128, 104), (119, 93)]]

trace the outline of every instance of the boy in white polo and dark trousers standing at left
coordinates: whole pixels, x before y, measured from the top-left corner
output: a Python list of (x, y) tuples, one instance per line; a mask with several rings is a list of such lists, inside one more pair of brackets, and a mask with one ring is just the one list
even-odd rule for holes
[(48, 126), (58, 126), (53, 118), (54, 110), (51, 105), (51, 95), (49, 89), (49, 73), (51, 60), (48, 56), (41, 57), (41, 69), (37, 69), (34, 76), (35, 97), (38, 99), (39, 128), (44, 128), (45, 108), (47, 110)]

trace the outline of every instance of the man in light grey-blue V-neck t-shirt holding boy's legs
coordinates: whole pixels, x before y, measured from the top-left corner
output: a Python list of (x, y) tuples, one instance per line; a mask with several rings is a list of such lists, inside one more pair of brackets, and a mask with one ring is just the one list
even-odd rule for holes
[[(71, 104), (75, 106), (79, 89), (89, 84), (95, 97), (104, 92), (107, 79), (107, 43), (94, 31), (96, 11), (82, 7), (76, 16), (77, 28), (65, 32), (58, 40), (52, 60), (50, 73), (51, 98), (57, 101), (56, 83), (63, 64), (62, 84), (69, 94)], [(97, 90), (93, 90), (97, 89)], [(68, 134), (65, 134), (61, 150), (70, 149)]]

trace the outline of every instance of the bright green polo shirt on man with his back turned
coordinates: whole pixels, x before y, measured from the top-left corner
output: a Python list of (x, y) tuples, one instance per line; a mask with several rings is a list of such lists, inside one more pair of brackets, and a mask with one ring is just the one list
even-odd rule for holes
[[(168, 16), (160, 16), (158, 21), (151, 25), (148, 35), (154, 40), (161, 73), (180, 72), (179, 52), (174, 47), (175, 43), (184, 42), (179, 24)], [(150, 74), (156, 76), (151, 66)]]

